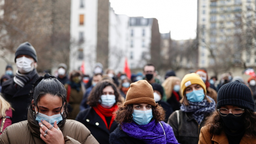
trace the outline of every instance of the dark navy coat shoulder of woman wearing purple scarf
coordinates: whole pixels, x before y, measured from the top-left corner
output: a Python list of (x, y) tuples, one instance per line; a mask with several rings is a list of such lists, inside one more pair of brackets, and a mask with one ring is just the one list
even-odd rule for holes
[(118, 126), (114, 132), (111, 133), (111, 139), (109, 139), (109, 144), (146, 144), (142, 140), (135, 139), (134, 137), (128, 136), (123, 130)]

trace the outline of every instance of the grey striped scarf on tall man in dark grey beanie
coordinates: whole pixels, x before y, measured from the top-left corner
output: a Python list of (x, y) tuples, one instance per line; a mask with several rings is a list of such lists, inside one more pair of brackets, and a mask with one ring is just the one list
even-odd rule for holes
[(17, 84), (17, 90), (24, 87), (27, 83), (29, 83), (33, 76), (37, 74), (37, 71), (33, 69), (31, 72), (26, 74), (21, 74), (19, 71), (16, 71), (16, 75), (14, 76), (14, 86)]

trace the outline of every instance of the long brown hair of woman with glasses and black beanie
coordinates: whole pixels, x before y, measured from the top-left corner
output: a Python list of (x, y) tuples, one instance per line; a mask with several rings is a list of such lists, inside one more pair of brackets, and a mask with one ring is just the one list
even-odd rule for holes
[[(244, 114), (245, 136), (256, 137), (256, 113), (246, 109)], [(209, 117), (207, 117), (204, 125), (210, 125), (211, 134), (219, 135), (224, 129), (224, 122), (218, 111), (214, 111)]]

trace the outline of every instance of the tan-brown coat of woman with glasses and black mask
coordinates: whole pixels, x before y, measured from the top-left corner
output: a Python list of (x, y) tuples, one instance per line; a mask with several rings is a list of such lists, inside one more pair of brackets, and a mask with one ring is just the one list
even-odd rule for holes
[[(221, 134), (211, 134), (210, 125), (201, 129), (198, 144), (229, 144), (226, 133), (222, 130)], [(240, 144), (256, 144), (256, 138), (242, 137)]]

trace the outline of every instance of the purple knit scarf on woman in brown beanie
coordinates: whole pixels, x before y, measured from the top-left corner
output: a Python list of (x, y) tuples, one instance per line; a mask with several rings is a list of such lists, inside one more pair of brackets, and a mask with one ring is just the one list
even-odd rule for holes
[[(163, 128), (165, 129), (166, 137), (161, 124), (163, 124)], [(146, 125), (139, 125), (133, 121), (131, 123), (124, 122), (122, 129), (128, 136), (142, 140), (147, 144), (178, 144), (172, 128), (164, 122), (161, 122), (161, 124), (159, 122), (156, 123), (155, 120)]]

